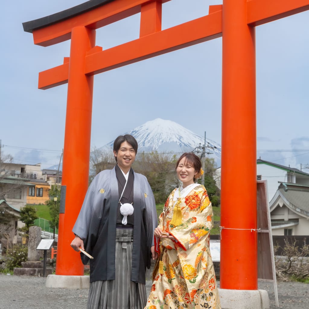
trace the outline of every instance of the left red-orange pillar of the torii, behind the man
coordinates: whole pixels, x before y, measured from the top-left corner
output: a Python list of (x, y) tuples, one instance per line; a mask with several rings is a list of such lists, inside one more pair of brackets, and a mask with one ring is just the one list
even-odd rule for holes
[(85, 75), (83, 69), (86, 53), (94, 45), (95, 30), (86, 27), (72, 29), (62, 167), (62, 186), (66, 186), (66, 211), (63, 210), (59, 215), (57, 251), (61, 254), (56, 260), (57, 275), (84, 274), (80, 257), (70, 252), (70, 242), (73, 239), (72, 226), (76, 221), (76, 213), (79, 212), (80, 202), (84, 200), (88, 188), (93, 75)]

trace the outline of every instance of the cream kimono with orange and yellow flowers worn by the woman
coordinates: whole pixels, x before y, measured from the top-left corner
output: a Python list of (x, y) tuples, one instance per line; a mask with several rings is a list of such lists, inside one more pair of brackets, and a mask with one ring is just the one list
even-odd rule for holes
[[(177, 190), (171, 192), (159, 217), (159, 227), (177, 242), (161, 239), (163, 274), (155, 267), (145, 309), (220, 309), (209, 250), (209, 232), (213, 227), (211, 202), (202, 185), (192, 184), (185, 195)], [(173, 226), (170, 222), (177, 201), (181, 205), (182, 223)]]

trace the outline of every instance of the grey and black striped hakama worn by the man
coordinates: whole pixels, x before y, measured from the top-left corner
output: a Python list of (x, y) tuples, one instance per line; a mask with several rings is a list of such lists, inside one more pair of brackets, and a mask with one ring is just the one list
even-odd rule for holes
[(87, 309), (143, 309), (146, 287), (131, 281), (133, 229), (116, 228), (115, 280), (90, 283)]

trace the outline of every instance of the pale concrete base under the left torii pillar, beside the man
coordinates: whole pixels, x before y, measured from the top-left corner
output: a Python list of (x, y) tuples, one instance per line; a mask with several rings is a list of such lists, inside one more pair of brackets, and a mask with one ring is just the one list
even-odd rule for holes
[(48, 288), (89, 289), (89, 276), (47, 276), (45, 286)]

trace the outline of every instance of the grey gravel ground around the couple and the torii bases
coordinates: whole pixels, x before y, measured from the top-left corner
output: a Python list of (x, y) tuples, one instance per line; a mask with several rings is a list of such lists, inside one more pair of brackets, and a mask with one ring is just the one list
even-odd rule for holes
[[(0, 274), (1, 309), (86, 309), (88, 290), (70, 290), (45, 287), (46, 278), (8, 276)], [(147, 281), (146, 288), (150, 289)], [(279, 308), (308, 309), (309, 284), (278, 282)], [(259, 289), (269, 295), (270, 309), (277, 308), (273, 283), (259, 282)], [(116, 309), (116, 308), (115, 308)]]

